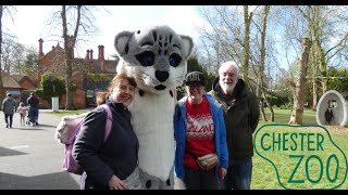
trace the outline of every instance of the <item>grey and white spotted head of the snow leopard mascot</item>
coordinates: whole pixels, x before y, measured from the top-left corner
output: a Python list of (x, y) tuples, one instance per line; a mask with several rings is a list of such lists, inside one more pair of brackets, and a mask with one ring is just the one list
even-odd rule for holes
[(133, 76), (146, 92), (167, 92), (183, 82), (192, 47), (190, 37), (177, 35), (169, 26), (121, 31), (115, 37), (121, 57), (117, 73)]

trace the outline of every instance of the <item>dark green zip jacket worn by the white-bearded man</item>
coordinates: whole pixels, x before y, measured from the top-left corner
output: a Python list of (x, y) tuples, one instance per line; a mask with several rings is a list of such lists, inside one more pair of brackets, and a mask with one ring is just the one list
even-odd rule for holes
[(246, 89), (243, 79), (235, 87), (231, 105), (226, 104), (220, 91), (216, 78), (209, 93), (223, 105), (231, 166), (253, 156), (252, 133), (259, 123), (260, 107), (257, 96)]

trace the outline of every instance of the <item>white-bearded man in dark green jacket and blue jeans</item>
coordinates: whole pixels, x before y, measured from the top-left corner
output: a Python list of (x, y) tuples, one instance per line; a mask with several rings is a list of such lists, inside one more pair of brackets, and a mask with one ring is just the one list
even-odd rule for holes
[(238, 79), (238, 66), (226, 62), (219, 68), (219, 77), (209, 92), (225, 112), (228, 145), (228, 169), (225, 190), (250, 190), (252, 176), (252, 133), (258, 127), (260, 108), (257, 96)]

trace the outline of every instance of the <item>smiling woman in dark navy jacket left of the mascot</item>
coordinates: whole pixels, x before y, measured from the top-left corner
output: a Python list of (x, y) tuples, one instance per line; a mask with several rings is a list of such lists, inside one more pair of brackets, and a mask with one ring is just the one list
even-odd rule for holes
[(73, 146), (73, 158), (85, 170), (80, 188), (142, 188), (139, 169), (139, 142), (130, 123), (127, 106), (134, 99), (136, 82), (117, 74), (110, 83), (107, 105), (112, 112), (112, 129), (104, 141), (107, 118), (102, 108), (90, 112)]

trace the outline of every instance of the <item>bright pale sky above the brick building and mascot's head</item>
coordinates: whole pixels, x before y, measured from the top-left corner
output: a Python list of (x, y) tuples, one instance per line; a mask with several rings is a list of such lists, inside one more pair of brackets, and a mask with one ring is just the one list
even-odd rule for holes
[[(52, 46), (61, 39), (60, 23), (49, 24), (52, 14), (60, 6), (52, 5), (18, 5), (16, 12), (3, 17), (3, 31), (16, 36), (17, 42), (26, 47), (39, 48), (38, 40), (44, 40), (44, 53), (48, 53)], [(178, 14), (179, 13), (179, 14)], [(105, 5), (97, 6), (94, 12), (96, 26), (99, 31), (82, 37), (86, 41), (76, 44), (75, 56), (85, 57), (88, 49), (94, 50), (94, 58), (98, 57), (98, 46), (104, 46), (104, 57), (112, 58), (115, 54), (114, 37), (122, 30), (137, 30), (149, 25), (169, 25), (177, 34), (190, 36), (198, 41), (198, 26), (206, 22), (199, 16), (198, 8), (190, 5)], [(73, 31), (71, 29), (71, 31)], [(73, 34), (73, 32), (71, 32)]]

